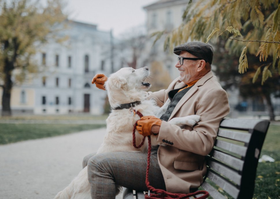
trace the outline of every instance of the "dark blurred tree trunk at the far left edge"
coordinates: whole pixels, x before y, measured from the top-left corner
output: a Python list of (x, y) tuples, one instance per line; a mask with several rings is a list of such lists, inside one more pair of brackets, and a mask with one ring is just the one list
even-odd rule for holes
[(3, 95), (2, 95), (2, 116), (11, 116), (11, 91), (12, 91), (12, 68), (11, 62), (8, 59), (5, 60), (4, 66), (5, 81), (3, 85)]

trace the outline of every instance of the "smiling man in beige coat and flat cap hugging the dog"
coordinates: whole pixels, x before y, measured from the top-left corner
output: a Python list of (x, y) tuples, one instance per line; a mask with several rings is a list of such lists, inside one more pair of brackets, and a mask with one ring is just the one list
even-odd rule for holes
[[(211, 72), (213, 48), (203, 42), (188, 42), (174, 48), (179, 55), (176, 67), (180, 77), (165, 90), (148, 92), (162, 106), (171, 100), (160, 117), (142, 117), (137, 129), (144, 136), (154, 134), (165, 144), (152, 151), (150, 184), (173, 193), (189, 193), (203, 182), (205, 156), (214, 146), (221, 120), (229, 113), (228, 97)], [(93, 78), (104, 89), (107, 77)], [(180, 128), (167, 121), (174, 117), (197, 114), (201, 121), (194, 127)], [(88, 178), (92, 198), (115, 198), (115, 185), (145, 190), (147, 154), (114, 152), (88, 155)]]

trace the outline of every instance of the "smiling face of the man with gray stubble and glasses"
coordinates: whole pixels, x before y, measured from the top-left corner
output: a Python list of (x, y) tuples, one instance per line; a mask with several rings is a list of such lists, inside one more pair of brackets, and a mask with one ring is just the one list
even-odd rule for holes
[[(182, 51), (179, 57), (189, 57), (189, 58), (197, 58), (194, 55), (190, 54), (189, 52)], [(197, 80), (199, 77), (199, 72), (197, 68), (199, 60), (187, 60), (184, 59), (183, 65), (180, 64), (180, 61), (176, 63), (176, 68), (178, 68), (180, 72), (180, 80), (185, 84), (189, 84), (194, 80)]]

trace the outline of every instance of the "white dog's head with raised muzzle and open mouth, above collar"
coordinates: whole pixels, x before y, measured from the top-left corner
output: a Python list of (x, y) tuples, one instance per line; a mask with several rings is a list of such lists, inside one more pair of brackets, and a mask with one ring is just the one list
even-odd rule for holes
[(114, 108), (119, 104), (143, 100), (146, 95), (143, 91), (151, 86), (145, 82), (149, 75), (148, 67), (139, 69), (126, 67), (111, 74), (105, 82), (110, 105)]

